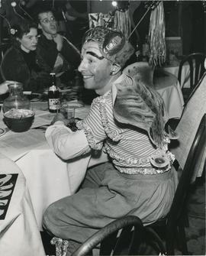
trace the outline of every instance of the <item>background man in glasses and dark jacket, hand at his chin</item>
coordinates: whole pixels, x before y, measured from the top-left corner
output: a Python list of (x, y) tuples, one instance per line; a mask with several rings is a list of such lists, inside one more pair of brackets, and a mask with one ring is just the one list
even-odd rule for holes
[(47, 66), (47, 70), (56, 73), (60, 82), (68, 86), (81, 60), (79, 50), (57, 33), (56, 18), (47, 6), (37, 8), (36, 15), (38, 28), (42, 31), (37, 44), (38, 63)]

